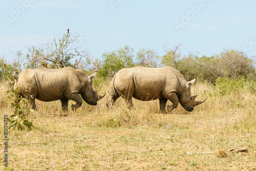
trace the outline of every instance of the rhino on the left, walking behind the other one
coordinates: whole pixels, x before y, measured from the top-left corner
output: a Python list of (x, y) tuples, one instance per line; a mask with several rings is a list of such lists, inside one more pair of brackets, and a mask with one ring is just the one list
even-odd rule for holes
[[(82, 70), (66, 67), (62, 69), (36, 68), (23, 70), (16, 79), (14, 88), (20, 96), (28, 99), (30, 108), (36, 109), (35, 99), (41, 101), (60, 100), (63, 111), (68, 111), (69, 100), (76, 101), (72, 110), (82, 105), (82, 99), (88, 104), (96, 105), (103, 96), (93, 90), (92, 78), (96, 73), (87, 76)], [(80, 96), (81, 95), (81, 96)], [(81, 98), (82, 97), (82, 98)]]

